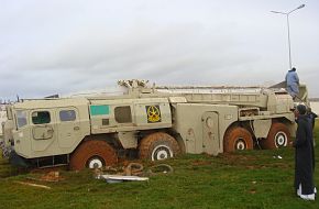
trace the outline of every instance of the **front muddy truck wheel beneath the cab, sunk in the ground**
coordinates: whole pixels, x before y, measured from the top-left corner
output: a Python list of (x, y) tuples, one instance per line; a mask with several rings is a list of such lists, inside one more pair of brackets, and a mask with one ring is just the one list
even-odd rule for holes
[(80, 170), (84, 168), (101, 168), (118, 163), (114, 148), (105, 141), (90, 140), (77, 147), (72, 154), (69, 168)]

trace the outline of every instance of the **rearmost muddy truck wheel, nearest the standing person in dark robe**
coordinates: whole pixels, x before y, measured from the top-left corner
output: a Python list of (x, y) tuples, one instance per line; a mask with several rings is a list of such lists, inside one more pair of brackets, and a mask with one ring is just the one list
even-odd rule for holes
[(261, 140), (263, 148), (280, 148), (289, 144), (290, 133), (284, 123), (274, 122), (266, 139)]

